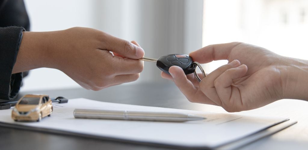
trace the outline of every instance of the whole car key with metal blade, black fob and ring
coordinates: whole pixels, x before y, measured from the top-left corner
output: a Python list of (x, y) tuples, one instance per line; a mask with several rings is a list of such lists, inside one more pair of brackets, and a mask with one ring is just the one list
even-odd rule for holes
[(201, 69), (203, 76), (205, 77), (204, 70), (198, 62), (194, 62), (193, 58), (188, 55), (183, 54), (169, 54), (159, 57), (158, 59), (143, 57), (139, 60), (156, 62), (156, 66), (162, 70), (164, 73), (169, 73), (169, 68), (171, 66), (179, 66), (183, 69), (185, 74), (194, 73), (196, 79), (200, 82), (201, 79), (196, 73), (196, 67), (198, 66)]

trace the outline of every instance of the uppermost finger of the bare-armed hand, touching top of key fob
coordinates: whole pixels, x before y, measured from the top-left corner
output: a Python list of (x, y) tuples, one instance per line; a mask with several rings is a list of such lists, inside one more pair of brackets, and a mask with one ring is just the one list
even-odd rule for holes
[(241, 44), (241, 42), (208, 45), (191, 52), (189, 56), (191, 56), (194, 61), (202, 64), (211, 61), (226, 60), (228, 59), (231, 50), (239, 44)]

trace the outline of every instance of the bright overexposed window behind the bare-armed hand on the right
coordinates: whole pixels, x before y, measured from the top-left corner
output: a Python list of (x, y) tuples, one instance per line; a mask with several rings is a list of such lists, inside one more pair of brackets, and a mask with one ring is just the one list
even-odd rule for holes
[[(203, 46), (241, 41), (308, 59), (308, 1), (204, 0)], [(207, 72), (226, 64), (211, 62)]]

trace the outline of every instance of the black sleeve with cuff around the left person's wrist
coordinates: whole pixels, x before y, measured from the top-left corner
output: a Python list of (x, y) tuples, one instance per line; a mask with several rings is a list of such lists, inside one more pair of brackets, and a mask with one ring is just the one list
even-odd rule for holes
[(13, 100), (22, 83), (22, 73), (12, 74), (23, 27), (0, 27), (0, 99)]

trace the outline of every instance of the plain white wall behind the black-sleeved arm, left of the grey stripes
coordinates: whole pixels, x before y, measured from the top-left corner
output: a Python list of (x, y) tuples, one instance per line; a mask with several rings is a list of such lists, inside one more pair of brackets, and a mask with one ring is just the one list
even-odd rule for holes
[[(93, 1), (84, 0), (25, 0), (31, 31), (54, 31), (74, 26), (94, 27), (91, 11)], [(73, 5), (72, 5), (73, 4)], [(21, 91), (74, 88), (79, 85), (56, 69), (40, 68), (24, 78)]]

